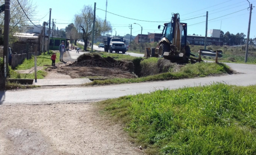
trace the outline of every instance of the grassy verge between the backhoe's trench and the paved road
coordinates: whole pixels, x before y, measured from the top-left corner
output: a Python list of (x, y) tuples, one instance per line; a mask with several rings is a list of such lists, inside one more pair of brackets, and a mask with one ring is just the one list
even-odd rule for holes
[(127, 78), (113, 78), (107, 80), (94, 80), (93, 82), (85, 85), (109, 85), (109, 84), (121, 84), (121, 83), (133, 83), (133, 82), (146, 82), (146, 81), (160, 81), (160, 80), (175, 80), (182, 78), (192, 77), (205, 77), (207, 75), (218, 75), (223, 73), (232, 73), (229, 66), (223, 63), (195, 63), (187, 64), (178, 72), (167, 72), (156, 75), (150, 75), (147, 77), (139, 77), (133, 79)]

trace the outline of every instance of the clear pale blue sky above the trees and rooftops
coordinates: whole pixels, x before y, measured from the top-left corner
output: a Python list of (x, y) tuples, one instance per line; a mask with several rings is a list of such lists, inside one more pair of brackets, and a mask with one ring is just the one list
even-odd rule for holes
[[(97, 8), (96, 16), (105, 19), (105, 11), (100, 9), (106, 10), (106, 0), (32, 1), (34, 5), (38, 6), (36, 9), (37, 15), (33, 21), (35, 24), (40, 23), (42, 25), (43, 21), (48, 21), (49, 9), (51, 8), (51, 17), (56, 23), (56, 29), (57, 27), (59, 29), (65, 28), (69, 23), (74, 22), (75, 14), (80, 14), (84, 5), (91, 5), (93, 8), (95, 2)], [(256, 0), (249, 0), (249, 2), (256, 6)], [(143, 29), (142, 34), (147, 34), (148, 32), (161, 33), (157, 28), (158, 25), (170, 22), (172, 13), (179, 13), (180, 21), (188, 25), (187, 34), (192, 35), (194, 33), (204, 36), (206, 11), (208, 11), (208, 30), (221, 29), (224, 33), (229, 31), (233, 34), (244, 33), (247, 35), (250, 12), (247, 8), (249, 7), (249, 2), (247, 0), (107, 0), (107, 11), (120, 15), (116, 16), (107, 12), (107, 21), (110, 21), (112, 28), (116, 30), (116, 35), (130, 34), (130, 24), (132, 24), (133, 28), (132, 35), (140, 34), (140, 25)], [(256, 8), (254, 7), (251, 15), (250, 38), (256, 38), (255, 12)], [(132, 19), (126, 19), (121, 16)], [(115, 31), (113, 31), (112, 35), (115, 35)]]

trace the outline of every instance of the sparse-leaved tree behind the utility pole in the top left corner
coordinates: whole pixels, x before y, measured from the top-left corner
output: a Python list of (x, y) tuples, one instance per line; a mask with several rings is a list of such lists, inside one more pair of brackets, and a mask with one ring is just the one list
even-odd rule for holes
[[(0, 0), (0, 4), (4, 4), (5, 0)], [(33, 21), (37, 6), (32, 4), (32, 0), (19, 0), (21, 7), (27, 16)], [(14, 36), (17, 32), (26, 30), (27, 17), (19, 6), (17, 0), (10, 1), (10, 20), (9, 20), (9, 43), (15, 42), (17, 38)], [(0, 29), (4, 30), (4, 13), (0, 14)]]

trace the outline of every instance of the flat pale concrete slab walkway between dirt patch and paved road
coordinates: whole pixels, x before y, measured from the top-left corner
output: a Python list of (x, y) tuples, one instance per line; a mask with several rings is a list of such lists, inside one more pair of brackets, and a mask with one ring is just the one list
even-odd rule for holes
[(33, 81), (33, 85), (37, 86), (54, 86), (54, 85), (82, 85), (85, 83), (92, 82), (87, 78), (81, 79), (37, 79)]

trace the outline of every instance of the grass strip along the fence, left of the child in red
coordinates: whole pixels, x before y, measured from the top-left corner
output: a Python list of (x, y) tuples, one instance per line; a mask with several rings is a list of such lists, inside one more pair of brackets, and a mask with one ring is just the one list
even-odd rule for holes
[[(59, 52), (55, 51), (57, 55), (57, 59), (55, 63), (59, 63)], [(47, 54), (41, 54), (40, 56), (37, 56), (37, 61), (36, 64), (37, 66), (45, 66), (45, 65), (52, 65), (52, 60), (51, 60), (52, 55), (47, 55)], [(34, 56), (31, 57), (31, 59), (25, 59), (23, 63), (18, 65), (15, 69), (16, 70), (26, 70), (33, 68), (35, 66), (34, 62)]]

